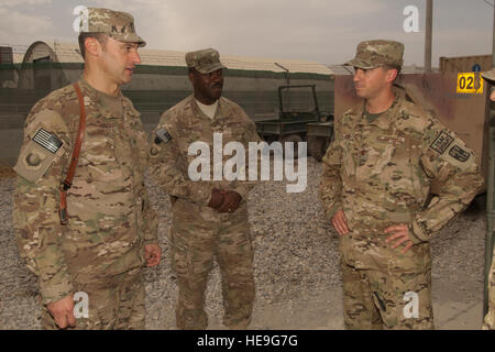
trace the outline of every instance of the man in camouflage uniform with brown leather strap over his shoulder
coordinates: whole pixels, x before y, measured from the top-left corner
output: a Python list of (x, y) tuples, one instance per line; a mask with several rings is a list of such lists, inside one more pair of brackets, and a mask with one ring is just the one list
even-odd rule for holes
[[(124, 12), (88, 9), (78, 81), (86, 133), (67, 193), (66, 226), (58, 209), (79, 125), (74, 86), (40, 100), (25, 122), (13, 219), (21, 255), (40, 278), (45, 329), (144, 329), (142, 267), (158, 264), (161, 250), (143, 180), (148, 138), (120, 91), (145, 45), (133, 21)], [(75, 293), (88, 298), (88, 317), (77, 321)]]

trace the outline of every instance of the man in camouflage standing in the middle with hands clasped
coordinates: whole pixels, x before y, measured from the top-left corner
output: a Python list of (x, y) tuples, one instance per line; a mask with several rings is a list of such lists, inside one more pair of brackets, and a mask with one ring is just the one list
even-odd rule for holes
[[(221, 133), (223, 145), (237, 141), (246, 150), (249, 142), (260, 138), (246, 113), (221, 97), (224, 67), (219, 53), (212, 48), (187, 53), (186, 63), (194, 95), (163, 113), (150, 148), (150, 173), (170, 195), (173, 204), (168, 243), (179, 288), (176, 324), (179, 329), (207, 328), (205, 290), (215, 257), (222, 278), (223, 323), (230, 329), (245, 329), (254, 300), (253, 243), (246, 202), (253, 184), (193, 180), (188, 168), (197, 156), (188, 150), (194, 142), (207, 143), (210, 165), (213, 133)], [(226, 160), (220, 157), (220, 165), (216, 165), (222, 167)], [(213, 168), (210, 167), (211, 175)]]

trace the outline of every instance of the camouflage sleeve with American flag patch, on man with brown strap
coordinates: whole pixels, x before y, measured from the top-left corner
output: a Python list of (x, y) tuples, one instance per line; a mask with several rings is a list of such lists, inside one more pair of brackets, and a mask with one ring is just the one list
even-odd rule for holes
[[(72, 148), (68, 130), (56, 112), (32, 112), (26, 121), (23, 145), (14, 168), (18, 173), (13, 208), (14, 232), (21, 256), (40, 278), (43, 302), (50, 304), (74, 290), (61, 244), (66, 235), (65, 228), (58, 217), (59, 185)], [(52, 135), (52, 142), (61, 141), (62, 151), (54, 154), (54, 148), (48, 151), (40, 147), (40, 144), (33, 142), (36, 132)], [(48, 166), (46, 172), (40, 169), (43, 165)]]

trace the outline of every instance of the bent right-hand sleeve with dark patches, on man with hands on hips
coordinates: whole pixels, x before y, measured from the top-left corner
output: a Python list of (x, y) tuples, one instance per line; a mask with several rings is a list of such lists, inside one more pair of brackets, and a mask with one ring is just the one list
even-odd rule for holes
[(483, 186), (474, 152), (454, 133), (430, 118), (422, 138), (421, 166), (442, 185), (428, 208), (413, 222), (413, 242), (428, 241), (449, 220), (462, 212)]

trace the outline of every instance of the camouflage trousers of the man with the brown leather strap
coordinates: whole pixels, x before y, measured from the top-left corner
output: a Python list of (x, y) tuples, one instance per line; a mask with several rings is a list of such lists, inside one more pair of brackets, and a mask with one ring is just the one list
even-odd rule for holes
[[(106, 282), (76, 282), (73, 285), (76, 292), (88, 295), (88, 318), (76, 317), (76, 327), (68, 329), (143, 330), (145, 328), (144, 280), (141, 267)], [(76, 302), (77, 308), (78, 302)], [(45, 305), (42, 306), (42, 327), (47, 330), (58, 329)]]

